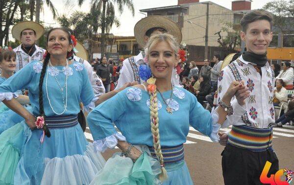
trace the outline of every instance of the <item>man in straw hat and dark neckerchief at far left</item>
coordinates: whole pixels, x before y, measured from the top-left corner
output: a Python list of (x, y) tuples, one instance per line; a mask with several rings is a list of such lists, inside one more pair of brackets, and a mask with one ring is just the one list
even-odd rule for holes
[(42, 60), (45, 50), (35, 45), (44, 33), (44, 27), (33, 21), (23, 21), (12, 27), (13, 37), (22, 42), (13, 50), (16, 52), (16, 72), (32, 60)]

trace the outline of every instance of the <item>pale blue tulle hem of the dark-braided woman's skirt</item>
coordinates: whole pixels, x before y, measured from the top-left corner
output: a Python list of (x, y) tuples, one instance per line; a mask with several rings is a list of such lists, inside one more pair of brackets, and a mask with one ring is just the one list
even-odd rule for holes
[(94, 152), (92, 144), (87, 146), (85, 155), (46, 158), (41, 185), (89, 185), (104, 164), (104, 158)]

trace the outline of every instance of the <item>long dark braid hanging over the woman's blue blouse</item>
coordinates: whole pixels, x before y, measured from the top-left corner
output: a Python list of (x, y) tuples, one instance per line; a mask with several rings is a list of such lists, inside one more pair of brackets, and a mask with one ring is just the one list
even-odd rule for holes
[[(44, 112), (44, 104), (43, 104), (43, 82), (44, 82), (44, 77), (46, 74), (46, 69), (47, 69), (47, 65), (49, 63), (49, 59), (50, 59), (50, 53), (48, 53), (44, 59), (43, 62), (43, 68), (41, 71), (41, 75), (40, 75), (40, 81), (39, 81), (39, 112), (40, 115), (44, 117), (45, 121), (46, 121), (46, 115)], [(50, 138), (51, 134), (49, 129), (46, 127), (45, 128), (45, 135)]]

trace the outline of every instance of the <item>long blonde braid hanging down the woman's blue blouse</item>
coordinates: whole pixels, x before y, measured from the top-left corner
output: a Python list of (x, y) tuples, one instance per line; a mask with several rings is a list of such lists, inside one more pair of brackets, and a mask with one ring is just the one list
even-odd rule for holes
[(150, 120), (151, 120), (151, 132), (153, 134), (153, 147), (154, 152), (161, 165), (161, 173), (159, 174), (159, 180), (165, 181), (168, 179), (167, 170), (164, 167), (163, 156), (160, 146), (160, 137), (159, 137), (159, 119), (158, 119), (158, 108), (157, 108), (157, 91), (154, 93), (149, 92), (150, 94)]

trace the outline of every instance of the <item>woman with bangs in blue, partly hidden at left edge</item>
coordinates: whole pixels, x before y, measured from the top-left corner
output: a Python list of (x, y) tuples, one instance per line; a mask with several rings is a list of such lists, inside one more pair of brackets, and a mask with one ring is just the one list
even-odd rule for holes
[[(1, 50), (0, 51), (0, 85), (10, 76), (14, 74), (15, 71), (15, 59), (16, 53), (13, 50)], [(28, 96), (23, 95), (21, 91), (13, 93), (13, 96), (18, 100), (19, 103), (25, 105), (29, 103)], [(31, 107), (27, 106), (27, 110), (31, 111)], [(10, 110), (5, 104), (0, 103), (0, 134), (12, 127), (16, 123), (24, 120), (22, 116), (19, 116), (12, 110)]]

